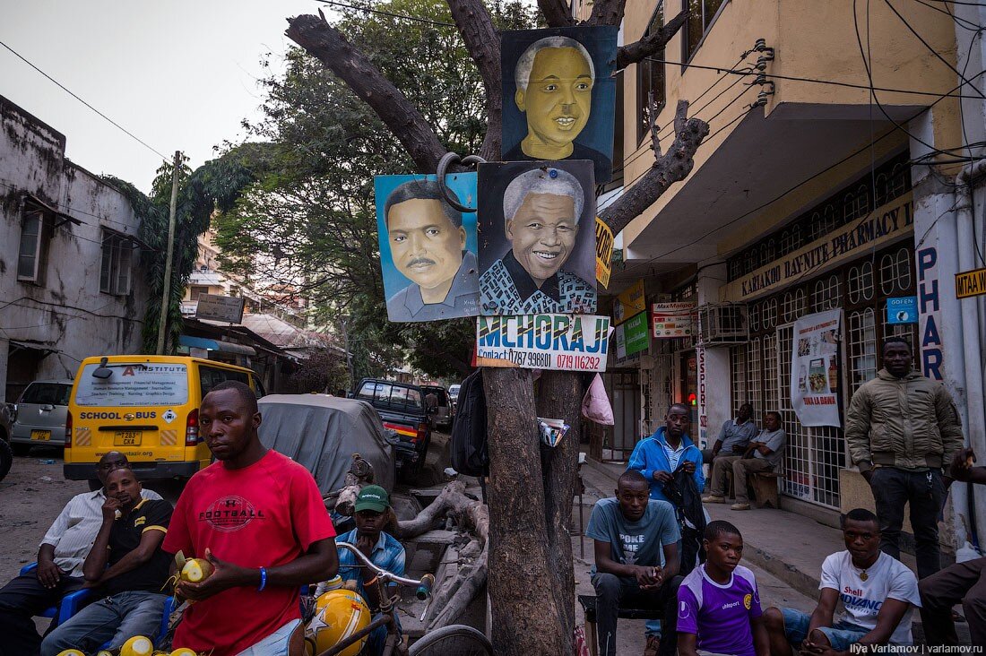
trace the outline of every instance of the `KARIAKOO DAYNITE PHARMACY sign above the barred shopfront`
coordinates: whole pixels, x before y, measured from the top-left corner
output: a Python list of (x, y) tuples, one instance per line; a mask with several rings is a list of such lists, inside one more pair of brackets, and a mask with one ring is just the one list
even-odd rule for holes
[(720, 288), (723, 301), (747, 301), (776, 291), (890, 242), (914, 229), (914, 201), (908, 191), (862, 219), (849, 222), (808, 246), (761, 266)]

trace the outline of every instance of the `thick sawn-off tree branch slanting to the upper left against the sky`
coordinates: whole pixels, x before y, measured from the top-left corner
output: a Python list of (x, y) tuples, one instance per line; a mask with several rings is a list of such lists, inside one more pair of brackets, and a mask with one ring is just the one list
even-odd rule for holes
[(435, 130), (366, 55), (318, 14), (288, 19), (285, 34), (330, 68), (380, 116), (420, 173), (433, 173), (445, 155)]

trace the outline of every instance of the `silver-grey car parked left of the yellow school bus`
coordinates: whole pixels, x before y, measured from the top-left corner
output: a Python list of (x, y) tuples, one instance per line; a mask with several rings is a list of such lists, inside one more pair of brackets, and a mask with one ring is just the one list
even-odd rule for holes
[(72, 381), (35, 381), (14, 406), (11, 447), (23, 456), (35, 445), (65, 446), (65, 418)]

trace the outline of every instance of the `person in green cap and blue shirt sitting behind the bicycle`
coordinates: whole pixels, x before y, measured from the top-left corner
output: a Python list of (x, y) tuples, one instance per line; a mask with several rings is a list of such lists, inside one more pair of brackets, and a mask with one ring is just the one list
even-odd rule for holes
[[(356, 497), (356, 528), (335, 539), (349, 543), (362, 551), (370, 560), (391, 574), (404, 575), (404, 547), (397, 539), (384, 531), (393, 511), (390, 496), (380, 485), (367, 485)], [(357, 566), (356, 556), (349, 549), (339, 549), (339, 576), (343, 581), (355, 581), (356, 591), (376, 614), (380, 608), (380, 588), (374, 579), (377, 575), (367, 567)], [(394, 616), (394, 620), (397, 617)], [(399, 629), (400, 623), (397, 622)], [(368, 646), (371, 654), (384, 653), (387, 626), (378, 627), (370, 634)]]

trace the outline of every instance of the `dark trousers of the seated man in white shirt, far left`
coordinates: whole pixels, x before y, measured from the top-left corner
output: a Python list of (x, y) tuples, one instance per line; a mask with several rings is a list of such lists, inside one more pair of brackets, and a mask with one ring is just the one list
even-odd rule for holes
[(18, 576), (0, 588), (0, 656), (34, 656), (39, 653), (41, 636), (32, 618), (62, 597), (82, 588), (82, 577), (62, 576), (57, 587), (48, 590), (37, 580), (36, 572)]

